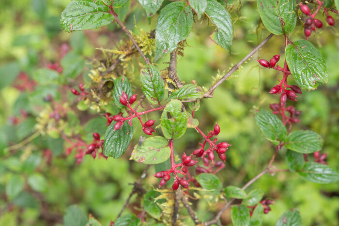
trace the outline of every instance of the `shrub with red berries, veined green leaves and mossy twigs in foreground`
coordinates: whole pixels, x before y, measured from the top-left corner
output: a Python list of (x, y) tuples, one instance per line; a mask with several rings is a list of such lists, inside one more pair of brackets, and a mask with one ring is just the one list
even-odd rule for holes
[[(194, 80), (183, 82), (176, 70), (177, 56), (185, 58), (183, 51), (189, 46), (185, 40), (195, 28), (193, 25), (201, 24), (201, 21), (208, 21), (209, 26), (214, 28), (210, 36), (213, 45), (219, 45), (225, 54), (230, 54), (233, 50), (233, 26), (236, 27), (231, 16), (231, 3), (225, 4), (226, 1), (220, 0), (132, 0), (133, 4), (143, 7), (149, 21), (153, 21), (154, 17), (156, 19), (153, 28), (148, 31), (138, 28), (140, 32), (137, 35), (124, 25), (124, 10), (128, 11), (128, 7), (124, 7), (124, 10), (122, 7), (127, 2), (129, 1), (72, 0), (63, 10), (61, 27), (67, 32), (97, 29), (113, 23), (120, 26), (127, 39), (122, 40), (118, 49), (105, 49), (107, 46), (103, 46), (100, 49), (103, 59), (93, 60), (88, 79), (81, 82), (73, 80), (68, 84), (69, 93), (76, 96), (73, 102), (59, 103), (51, 95), (44, 98), (50, 105), (37, 118), (37, 133), (34, 135), (60, 135), (67, 143), (65, 155), (75, 152), (77, 164), (82, 163), (85, 155), (92, 155), (94, 160), (98, 157), (118, 159), (126, 155), (128, 147), (134, 146), (127, 157), (147, 166), (139, 181), (134, 183), (130, 196), (111, 225), (184, 225), (188, 224), (187, 219), (184, 221), (186, 216), (193, 220), (190, 224), (221, 225), (222, 213), (231, 208), (234, 225), (259, 226), (263, 214), (270, 212), (275, 200), (267, 198), (260, 189), (246, 190), (263, 175), (291, 172), (299, 174), (304, 180), (317, 183), (339, 180), (338, 171), (327, 166), (327, 154), (320, 153), (323, 138), (310, 130), (293, 131), (293, 124), (300, 122), (298, 117), (302, 113), (293, 103), (298, 101), (300, 95), (306, 96), (308, 91), (315, 90), (328, 81), (324, 57), (308, 40), (312, 39), (312, 32), (326, 32), (324, 27), (327, 25), (322, 22), (324, 17), (329, 26), (335, 25), (334, 18), (338, 11), (333, 1), (298, 3), (294, 0), (258, 0), (261, 22), (270, 34), (227, 73), (216, 76), (209, 88)], [(335, 4), (338, 7), (339, 1), (335, 0)], [(135, 26), (138, 27), (138, 21), (135, 21)], [(306, 40), (297, 40), (296, 35), (290, 35), (295, 30), (304, 30)], [(200, 105), (204, 105), (205, 99), (213, 98), (214, 91), (273, 36), (280, 37), (284, 51), (272, 52), (265, 59), (259, 59), (258, 66), (264, 70), (275, 70), (281, 75), (276, 85), (266, 90), (274, 95), (276, 103), (269, 106), (262, 104), (262, 109), (255, 108), (253, 120), (262, 136), (275, 146), (275, 151), (263, 171), (244, 183), (243, 187), (233, 186), (232, 181), (227, 181), (228, 186), (224, 187), (217, 175), (227, 174), (228, 153), (235, 147), (218, 135), (220, 131), (230, 128), (220, 127), (218, 122), (209, 119), (208, 125), (200, 126), (200, 119), (195, 118), (195, 112), (199, 111)], [(159, 63), (167, 55), (170, 55), (168, 67)], [(51, 71), (45, 79), (54, 79), (53, 73), (64, 70), (58, 63), (48, 64), (48, 68)], [(25, 87), (20, 85), (22, 89), (34, 87), (34, 81), (29, 81), (24, 75), (20, 76), (21, 80), (26, 81)], [(66, 125), (64, 121), (77, 118), (75, 114), (68, 113), (70, 106), (75, 103), (79, 110), (96, 110), (106, 123), (96, 126), (107, 126), (106, 133), (99, 134), (95, 126), (87, 129), (88, 137), (92, 140), (88, 142), (78, 136), (77, 130), (81, 128), (76, 130), (72, 125)], [(263, 109), (268, 107), (271, 111)], [(154, 112), (158, 113), (158, 117), (155, 117)], [(24, 115), (23, 113), (22, 118)], [(13, 119), (14, 123), (15, 120), (19, 119)], [(142, 131), (143, 136), (139, 137), (139, 142), (133, 143), (131, 141), (136, 130)], [(175, 148), (178, 139), (185, 139), (186, 130), (198, 133), (200, 142), (191, 144), (190, 149)], [(5, 151), (15, 149), (11, 146)], [(282, 150), (287, 150), (285, 159), (288, 168), (274, 166), (274, 161)], [(51, 161), (49, 150), (45, 150), (44, 156)], [(152, 187), (143, 186), (142, 180), (150, 165), (155, 165), (153, 176), (159, 180)], [(115, 170), (114, 165), (112, 170)], [(208, 221), (202, 222), (194, 210), (200, 201), (196, 191), (208, 192), (215, 204), (222, 205)], [(133, 194), (143, 197), (138, 206), (140, 213), (122, 215)], [(187, 211), (181, 211), (182, 209)], [(83, 224), (74, 223), (75, 219), (81, 219), (67, 214), (79, 213), (74, 208), (69, 208), (64, 217), (65, 225), (101, 225), (91, 214)], [(302, 225), (298, 210), (287, 210), (277, 219), (277, 226), (282, 225)]]

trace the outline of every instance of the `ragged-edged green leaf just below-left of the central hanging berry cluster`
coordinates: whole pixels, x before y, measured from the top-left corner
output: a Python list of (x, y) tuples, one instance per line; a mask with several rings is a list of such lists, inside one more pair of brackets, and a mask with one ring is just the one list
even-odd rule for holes
[(165, 201), (165, 199), (157, 199), (155, 201), (155, 198), (160, 195), (161, 195), (160, 192), (151, 190), (151, 191), (148, 191), (144, 196), (145, 211), (156, 219), (159, 219), (162, 213), (162, 209), (159, 207), (158, 203), (161, 204)]

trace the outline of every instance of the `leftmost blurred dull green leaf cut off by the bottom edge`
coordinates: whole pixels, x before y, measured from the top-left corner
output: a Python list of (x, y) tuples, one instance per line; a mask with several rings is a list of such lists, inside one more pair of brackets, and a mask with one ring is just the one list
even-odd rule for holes
[(86, 223), (87, 217), (77, 205), (68, 207), (63, 215), (64, 226), (86, 226)]

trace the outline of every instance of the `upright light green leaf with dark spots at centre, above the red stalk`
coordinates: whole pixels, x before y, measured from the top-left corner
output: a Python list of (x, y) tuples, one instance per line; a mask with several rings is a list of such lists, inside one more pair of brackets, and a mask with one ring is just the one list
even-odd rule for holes
[(161, 115), (161, 130), (167, 139), (177, 139), (185, 134), (187, 128), (187, 113), (183, 104), (171, 100)]

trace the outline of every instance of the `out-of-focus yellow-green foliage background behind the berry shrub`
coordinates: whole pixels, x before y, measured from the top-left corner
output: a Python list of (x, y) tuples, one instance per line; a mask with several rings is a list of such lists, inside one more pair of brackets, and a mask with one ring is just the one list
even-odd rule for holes
[[(66, 97), (69, 102), (77, 102), (67, 86), (75, 86), (79, 81), (88, 81), (88, 70), (94, 57), (101, 52), (95, 48), (112, 49), (119, 45), (125, 35), (116, 25), (108, 25), (97, 30), (66, 33), (60, 29), (59, 21), (62, 10), (69, 0), (2, 0), (0, 9), (0, 150), (9, 145), (19, 143), (33, 133), (36, 117), (46, 108), (48, 103), (42, 99), (51, 94), (56, 101), (62, 102)], [(166, 1), (165, 1), (166, 3)], [(178, 75), (189, 83), (195, 80), (198, 85), (209, 87), (212, 76), (218, 70), (228, 70), (241, 60), (268, 33), (261, 27), (258, 29), (259, 14), (255, 1), (242, 1), (240, 11), (232, 12), (234, 22), (234, 39), (231, 56), (209, 39), (213, 27), (206, 21), (194, 23), (193, 30), (187, 38), (184, 57), (178, 58)], [(234, 8), (239, 4), (235, 4)], [(126, 6), (127, 7), (127, 6)], [(121, 9), (125, 24), (129, 30), (138, 34), (134, 26), (146, 31), (154, 29), (157, 15), (150, 24), (145, 12), (135, 0)], [(323, 18), (324, 21), (324, 18)], [(300, 23), (300, 21), (299, 21)], [(314, 91), (304, 91), (298, 102), (292, 103), (303, 113), (301, 122), (293, 126), (295, 129), (310, 129), (324, 138), (321, 153), (327, 153), (327, 162), (339, 168), (339, 38), (338, 24), (327, 27), (310, 41), (320, 50), (326, 60), (329, 82)], [(300, 24), (299, 24), (300, 25)], [(336, 38), (337, 37), (337, 38)], [(291, 36), (292, 40), (303, 37), (303, 29), (297, 27)], [(68, 48), (67, 55), (61, 60), (62, 51)], [(270, 59), (275, 54), (282, 54), (283, 37), (273, 37), (250, 60), (234, 73), (229, 81), (218, 87), (213, 99), (205, 99), (200, 103), (196, 118), (203, 131), (212, 129), (218, 122), (221, 133), (219, 140), (232, 146), (226, 153), (226, 167), (218, 173), (224, 186), (244, 185), (266, 166), (274, 152), (274, 146), (260, 134), (253, 120), (253, 109), (268, 109), (270, 103), (277, 103), (278, 97), (269, 95), (268, 90), (277, 84), (280, 74), (273, 70), (258, 67), (257, 59)], [(280, 64), (282, 64), (280, 60)], [(157, 63), (161, 70), (167, 67), (169, 56)], [(17, 84), (19, 72), (25, 72), (29, 79), (34, 79), (38, 69), (46, 68), (48, 63), (61, 62), (63, 73), (70, 73), (67, 85), (40, 83), (34, 90), (20, 91)], [(138, 71), (138, 70), (136, 70)], [(77, 76), (79, 75), (79, 76)], [(136, 73), (138, 76), (138, 73)], [(293, 79), (290, 79), (293, 84)], [(132, 81), (138, 87), (138, 79)], [(147, 105), (146, 105), (147, 106)], [(22, 119), (20, 109), (28, 113)], [(89, 120), (97, 120), (105, 125), (105, 119), (94, 111), (80, 112), (74, 107), (79, 118), (79, 126), (86, 125)], [(158, 113), (150, 118), (159, 119)], [(13, 125), (13, 120), (19, 122)], [(140, 128), (136, 126), (133, 141), (123, 155), (123, 161), (108, 158), (95, 159), (85, 156), (83, 162), (75, 165), (73, 156), (65, 156), (67, 144), (62, 138), (52, 139), (38, 136), (30, 144), (10, 154), (0, 151), (0, 225), (1, 226), (44, 226), (62, 225), (62, 215), (66, 208), (77, 204), (86, 214), (92, 213), (103, 225), (109, 225), (121, 210), (129, 195), (132, 183), (139, 178), (142, 164), (128, 161), (133, 146), (138, 142)], [(79, 127), (80, 134), (86, 136), (86, 130)], [(104, 135), (106, 127), (98, 128)], [(102, 132), (103, 131), (103, 132)], [(88, 132), (87, 132), (88, 136)], [(89, 138), (90, 140), (90, 138)], [(175, 141), (175, 150), (191, 152), (197, 148), (200, 136), (193, 129), (188, 129), (184, 138)], [(53, 153), (48, 166), (43, 150), (46, 147)], [(45, 148), (45, 149), (46, 149)], [(277, 156), (275, 166), (286, 168), (283, 149)], [(150, 174), (154, 167), (150, 169)], [(23, 191), (12, 199), (5, 196), (6, 185), (16, 178)], [(31, 181), (31, 182), (30, 182)], [(146, 179), (146, 188), (150, 189), (157, 180)], [(37, 187), (34, 188), (34, 185)], [(8, 187), (8, 186), (7, 186)], [(16, 186), (15, 186), (16, 187)], [(265, 214), (263, 225), (274, 225), (279, 216), (290, 208), (298, 208), (305, 226), (339, 225), (339, 184), (316, 184), (303, 181), (297, 174), (266, 174), (256, 181), (251, 189), (261, 188), (265, 197), (275, 200), (272, 211)], [(139, 200), (132, 198), (131, 209), (139, 207)], [(200, 200), (196, 206), (201, 220), (208, 220), (213, 211), (220, 206), (209, 206), (208, 200)], [(125, 212), (132, 211), (131, 209)], [(185, 211), (183, 211), (185, 214)], [(222, 216), (224, 224), (231, 224), (230, 212)]]

